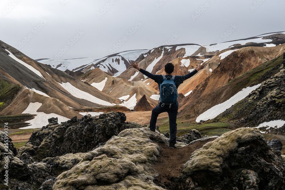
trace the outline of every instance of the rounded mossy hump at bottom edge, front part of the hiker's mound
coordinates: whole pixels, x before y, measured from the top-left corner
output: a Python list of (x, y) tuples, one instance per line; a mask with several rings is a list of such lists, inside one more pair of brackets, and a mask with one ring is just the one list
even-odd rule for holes
[(128, 174), (140, 174), (142, 171), (142, 168), (137, 167), (129, 160), (108, 158), (104, 154), (93, 158), (91, 161), (82, 161), (72, 169), (63, 172), (58, 176), (54, 189), (66, 184), (80, 187), (108, 185), (123, 180)]

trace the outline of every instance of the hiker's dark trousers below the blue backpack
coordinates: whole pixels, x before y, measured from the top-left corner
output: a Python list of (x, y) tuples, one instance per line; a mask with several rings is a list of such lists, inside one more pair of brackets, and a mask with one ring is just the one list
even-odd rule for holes
[(149, 128), (155, 129), (157, 117), (160, 113), (163, 112), (167, 112), (169, 117), (170, 143), (176, 144), (176, 118), (178, 114), (178, 106), (171, 105), (171, 107), (169, 108), (169, 105), (164, 105), (163, 107), (157, 105), (154, 109), (152, 109)]

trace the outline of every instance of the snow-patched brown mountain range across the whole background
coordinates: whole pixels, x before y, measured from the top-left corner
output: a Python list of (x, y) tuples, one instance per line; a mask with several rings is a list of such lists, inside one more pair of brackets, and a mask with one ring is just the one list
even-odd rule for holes
[[(164, 74), (165, 63), (172, 62), (174, 75), (185, 75), (207, 62), (207, 68), (178, 88), (181, 97), (185, 96), (179, 100), (178, 117), (196, 120), (211, 107), (253, 85), (253, 81), (240, 83), (238, 87), (227, 83), (281, 56), (285, 51), (284, 33), (211, 45), (160, 46), (152, 50), (121, 52), (101, 59), (41, 59), (38, 62), (0, 42), (0, 102), (3, 104), (0, 114), (27, 113), (44, 117), (45, 123), (36, 125), (31, 122), (32, 126), (41, 127), (47, 124), (49, 117), (58, 117), (62, 122), (74, 116), (80, 117), (79, 112), (100, 112), (99, 108), (149, 111), (158, 103), (158, 85), (130, 68), (129, 62), (137, 61), (141, 68), (153, 74)], [(217, 92), (219, 89), (222, 90)], [(39, 119), (35, 118), (34, 123), (37, 121)]]

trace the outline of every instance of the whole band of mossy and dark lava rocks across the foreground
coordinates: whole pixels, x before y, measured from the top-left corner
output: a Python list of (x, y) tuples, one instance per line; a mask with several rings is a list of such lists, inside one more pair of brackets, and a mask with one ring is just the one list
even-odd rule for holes
[[(18, 150), (17, 157), (12, 151), (13, 146), (10, 140), (9, 148), (12, 149), (9, 150), (10, 189), (237, 190), (266, 187), (281, 190), (285, 188), (283, 177), (285, 158), (280, 152), (282, 144), (280, 141), (271, 141), (267, 144), (257, 128), (239, 128), (220, 137), (201, 137), (198, 131), (191, 130), (181, 137), (187, 140), (187, 143), (177, 142), (178, 148), (172, 150), (168, 149), (169, 138), (160, 134), (158, 130), (152, 132), (147, 126), (124, 122), (124, 116), (123, 113), (109, 112), (98, 118), (86, 116), (81, 120), (74, 118), (61, 124), (57, 124), (56, 119), (50, 119), (50, 124), (43, 127), (40, 132), (35, 132), (30, 142)], [(97, 130), (96, 134), (114, 135), (109, 135), (111, 137), (107, 142), (98, 141), (97, 139), (103, 140), (103, 137), (99, 138), (94, 135), (93, 141), (96, 143), (90, 146), (87, 144), (91, 143), (90, 134), (93, 135), (93, 133), (85, 136), (86, 139), (81, 138), (77, 134), (80, 126), (82, 126), (82, 131), (84, 131), (83, 126), (85, 128), (93, 126), (90, 130)], [(60, 128), (66, 128), (63, 135), (61, 134), (63, 130)], [(72, 131), (74, 134), (70, 135)], [(3, 136), (5, 134), (0, 133), (0, 140)], [(70, 150), (70, 153), (52, 156), (56, 155), (56, 152), (45, 151), (46, 154), (51, 153), (51, 155), (42, 160), (36, 160), (39, 158), (37, 154), (40, 153), (39, 148), (36, 147), (42, 147), (45, 150), (48, 150), (49, 146), (55, 148), (54, 144), (70, 136), (76, 139), (72, 144), (65, 145), (72, 146), (64, 149)], [(193, 140), (194, 138), (197, 139)], [(188, 140), (191, 141), (189, 144)], [(81, 144), (84, 151), (78, 149), (76, 141), (77, 144)], [(65, 141), (63, 140), (61, 144), (63, 142)], [(202, 148), (195, 149), (198, 147), (197, 144), (199, 148)], [(3, 166), (4, 145), (2, 142), (0, 145), (0, 161)], [(178, 171), (175, 177), (168, 176), (168, 180), (162, 183), (161, 180), (157, 180), (162, 175), (161, 170), (156, 170), (160, 167), (157, 163), (161, 163), (161, 167), (166, 169), (167, 166), (158, 160), (165, 156), (162, 154), (164, 150), (177, 151), (179, 148), (183, 149), (179, 152), (184, 154), (184, 157), (177, 155), (177, 159), (185, 158), (183, 161), (180, 160), (180, 167), (183, 169)], [(186, 150), (194, 152), (190, 154)], [(41, 154), (41, 156), (44, 155)], [(2, 167), (1, 172), (4, 172)], [(12, 173), (17, 175), (12, 175)], [(4, 188), (3, 185), (0, 187)]]

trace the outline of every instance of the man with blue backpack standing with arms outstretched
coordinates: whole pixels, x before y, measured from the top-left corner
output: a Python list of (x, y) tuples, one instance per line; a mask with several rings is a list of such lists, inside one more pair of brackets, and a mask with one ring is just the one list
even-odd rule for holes
[(194, 71), (183, 76), (171, 75), (171, 73), (174, 71), (174, 65), (172, 63), (168, 63), (164, 66), (165, 75), (154, 75), (149, 73), (148, 71), (140, 68), (138, 66), (138, 62), (131, 62), (130, 65), (131, 68), (139, 70), (141, 73), (158, 83), (158, 87), (160, 89), (160, 100), (158, 105), (152, 109), (149, 129), (155, 132), (155, 125), (158, 115), (160, 113), (167, 112), (170, 129), (169, 148), (176, 148), (176, 118), (178, 114), (177, 88), (181, 83), (183, 83), (183, 81), (189, 79), (201, 69), (206, 68), (207, 63), (199, 65)]

